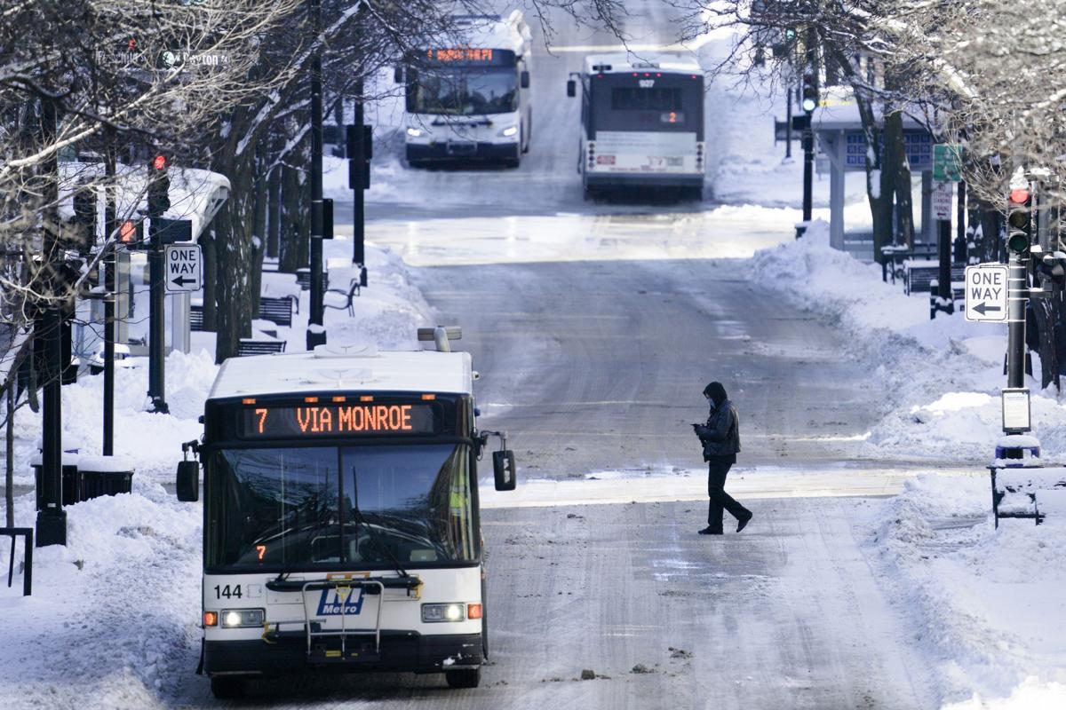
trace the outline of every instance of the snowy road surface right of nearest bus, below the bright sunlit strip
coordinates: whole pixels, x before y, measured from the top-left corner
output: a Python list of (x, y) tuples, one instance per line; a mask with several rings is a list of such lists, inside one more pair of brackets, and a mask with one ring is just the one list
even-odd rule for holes
[[(265, 681), (232, 707), (935, 707), (860, 549), (878, 502), (750, 507), (752, 527), (723, 538), (694, 534), (697, 503), (488, 511), (491, 662), (480, 689), (318, 677)], [(193, 676), (175, 700), (220, 705)]]

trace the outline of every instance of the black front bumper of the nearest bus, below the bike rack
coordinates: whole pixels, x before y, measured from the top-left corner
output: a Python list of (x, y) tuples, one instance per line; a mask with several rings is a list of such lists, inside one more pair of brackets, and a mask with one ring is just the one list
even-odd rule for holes
[(265, 641), (205, 641), (204, 670), (208, 675), (282, 675), (310, 671), (391, 671), (441, 673), (482, 664), (480, 633), (422, 635), (415, 631), (382, 631), (379, 653), (373, 635), (352, 634), (341, 650), (339, 639), (316, 638), (311, 653), (307, 637), (293, 634)]

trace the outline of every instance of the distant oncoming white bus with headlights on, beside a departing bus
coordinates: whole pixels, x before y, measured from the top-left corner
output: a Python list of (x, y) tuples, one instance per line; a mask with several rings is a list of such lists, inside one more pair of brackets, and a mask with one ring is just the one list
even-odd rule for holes
[(533, 128), (530, 29), (517, 10), (506, 19), (453, 19), (454, 46), (427, 47), (408, 56), (407, 163), (477, 160), (517, 167)]

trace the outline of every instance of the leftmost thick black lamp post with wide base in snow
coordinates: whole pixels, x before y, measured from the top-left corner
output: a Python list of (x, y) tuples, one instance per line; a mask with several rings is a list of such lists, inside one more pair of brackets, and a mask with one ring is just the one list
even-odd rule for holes
[[(55, 141), (55, 104), (45, 99), (41, 106), (42, 143), (51, 145)], [(59, 215), (59, 162), (55, 153), (44, 160), (42, 166), (44, 185), (42, 189), (44, 214), (45, 279), (42, 315), (36, 318), (34, 329), (39, 328), (37, 344), (44, 346), (41, 376), (44, 379), (45, 396), (42, 408), (42, 461), (41, 461), (41, 510), (37, 511), (37, 547), (66, 545), (66, 511), (63, 510), (63, 398), (61, 394), (61, 370), (63, 367), (60, 331), (62, 315), (59, 299), (63, 284), (60, 282), (63, 267), (60, 246)]]

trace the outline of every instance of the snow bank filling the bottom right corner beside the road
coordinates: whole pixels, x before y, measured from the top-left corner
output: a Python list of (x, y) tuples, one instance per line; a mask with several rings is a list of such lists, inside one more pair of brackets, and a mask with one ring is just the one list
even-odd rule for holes
[(944, 708), (1066, 707), (1066, 521), (991, 521), (987, 475), (922, 475), (885, 503), (869, 551)]

